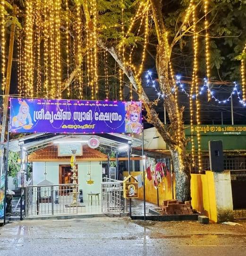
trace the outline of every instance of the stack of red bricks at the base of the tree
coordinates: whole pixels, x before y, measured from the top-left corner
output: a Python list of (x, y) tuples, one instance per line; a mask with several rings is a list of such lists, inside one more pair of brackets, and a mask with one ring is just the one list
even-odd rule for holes
[(192, 214), (192, 208), (189, 201), (185, 201), (182, 203), (177, 200), (167, 200), (162, 203), (161, 214), (169, 215), (169, 214)]

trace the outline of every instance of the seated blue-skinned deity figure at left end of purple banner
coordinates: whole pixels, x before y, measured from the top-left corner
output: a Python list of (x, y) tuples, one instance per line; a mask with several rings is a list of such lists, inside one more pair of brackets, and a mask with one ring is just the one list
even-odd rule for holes
[[(22, 127), (24, 129), (31, 129), (33, 127), (33, 122), (31, 115), (29, 113), (29, 106), (26, 101), (19, 101), (20, 107), (19, 112), (16, 116), (12, 119), (12, 127)], [(28, 120), (28, 124), (27, 124)]]

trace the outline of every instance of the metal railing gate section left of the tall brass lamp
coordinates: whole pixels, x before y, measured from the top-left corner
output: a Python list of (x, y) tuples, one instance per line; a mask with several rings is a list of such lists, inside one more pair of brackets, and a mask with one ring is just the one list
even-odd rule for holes
[[(77, 214), (73, 189), (77, 184), (36, 185), (26, 187), (26, 217)], [(76, 193), (76, 202), (77, 202)]]

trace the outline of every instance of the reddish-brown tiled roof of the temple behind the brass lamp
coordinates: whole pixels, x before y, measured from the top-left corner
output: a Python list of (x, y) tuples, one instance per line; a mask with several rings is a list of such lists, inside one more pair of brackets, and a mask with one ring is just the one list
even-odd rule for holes
[[(69, 161), (71, 156), (58, 156), (58, 147), (56, 145), (47, 146), (39, 149), (28, 156), (29, 162), (49, 162), (49, 161)], [(107, 155), (101, 153), (89, 146), (83, 146), (83, 155), (76, 156), (76, 162), (82, 161), (105, 161)]]

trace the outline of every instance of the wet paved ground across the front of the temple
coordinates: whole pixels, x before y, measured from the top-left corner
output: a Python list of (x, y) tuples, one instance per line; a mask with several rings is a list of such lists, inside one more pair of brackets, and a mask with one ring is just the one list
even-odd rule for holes
[(0, 228), (0, 256), (245, 256), (242, 226), (128, 218), (24, 220)]

